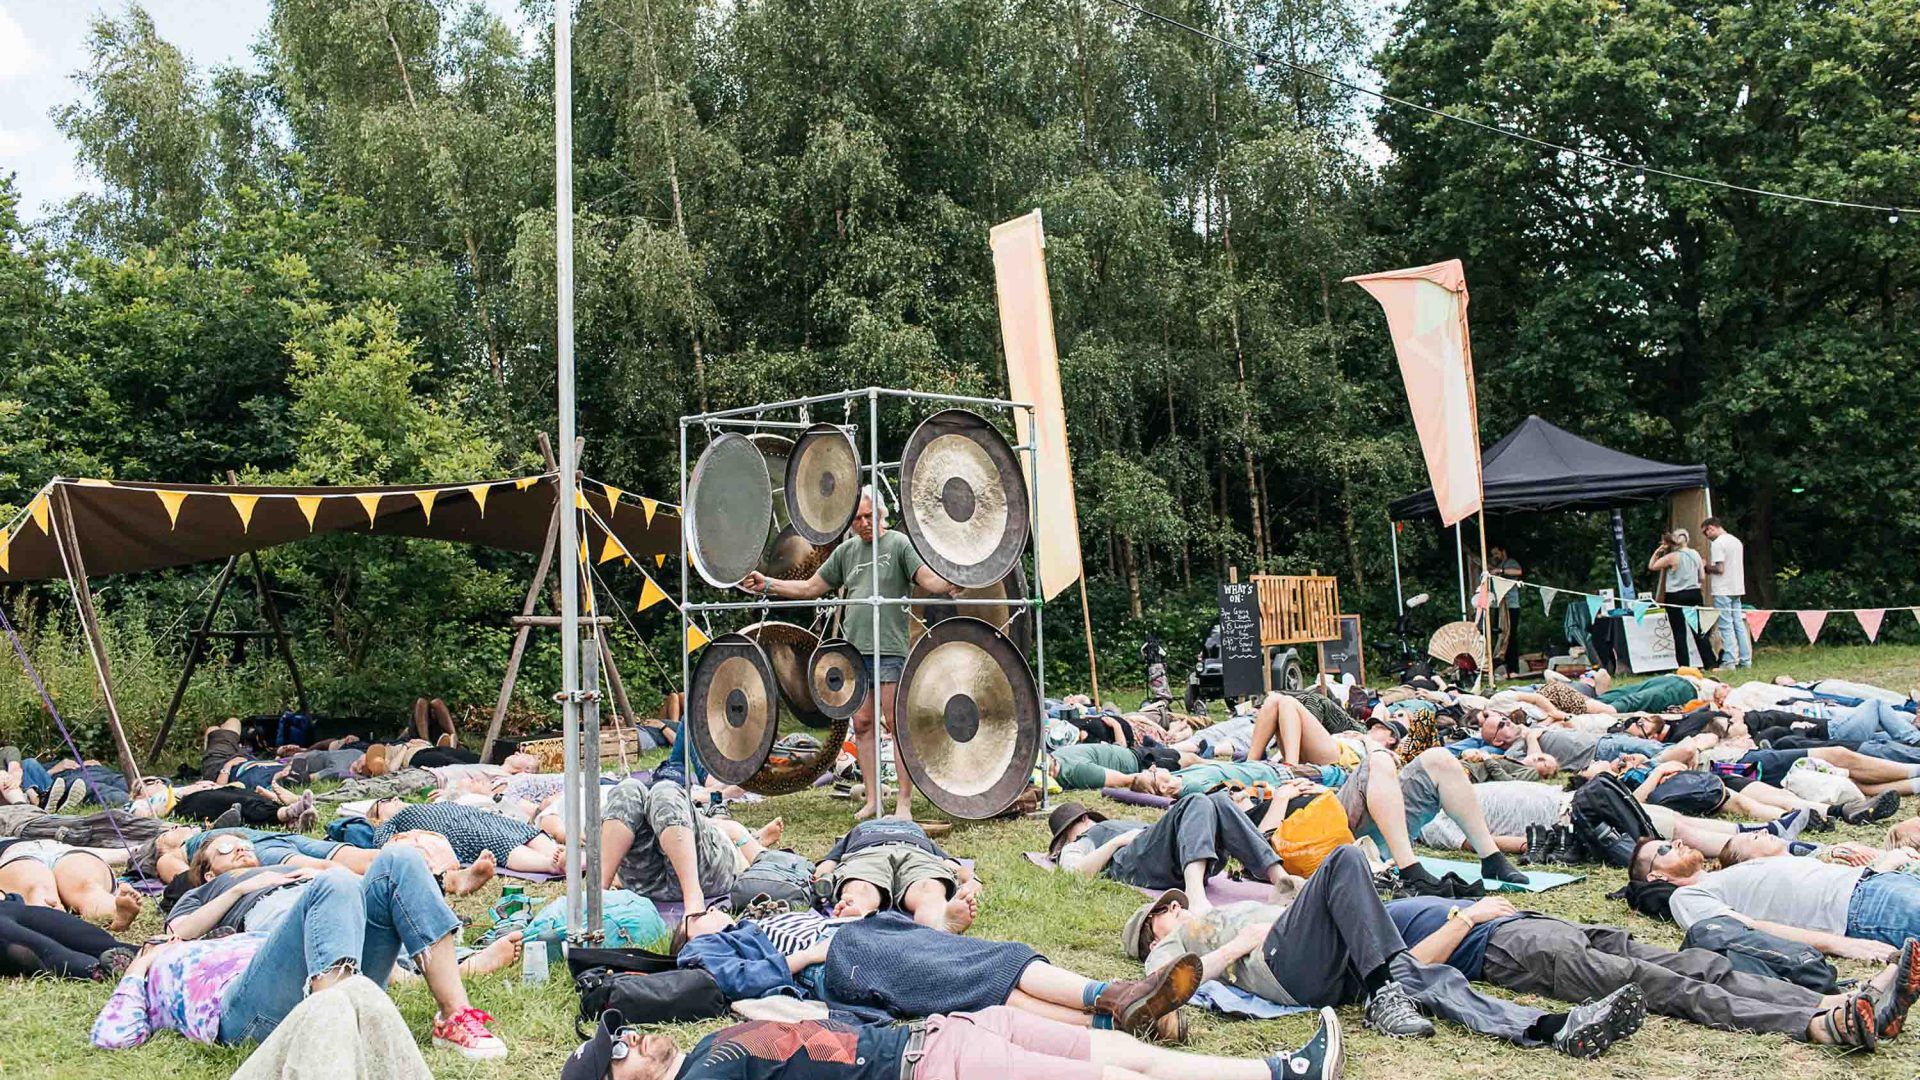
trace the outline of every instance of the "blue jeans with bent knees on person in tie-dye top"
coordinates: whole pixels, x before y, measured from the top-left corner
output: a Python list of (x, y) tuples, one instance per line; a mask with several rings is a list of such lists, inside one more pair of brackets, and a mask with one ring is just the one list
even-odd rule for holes
[(413, 847), (386, 847), (365, 878), (326, 871), (307, 882), (246, 972), (227, 988), (221, 1043), (265, 1040), (307, 995), (313, 976), (342, 963), (386, 986), (401, 949), (419, 955), (459, 924)]

